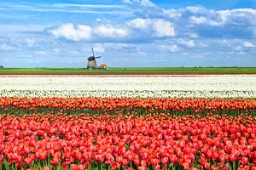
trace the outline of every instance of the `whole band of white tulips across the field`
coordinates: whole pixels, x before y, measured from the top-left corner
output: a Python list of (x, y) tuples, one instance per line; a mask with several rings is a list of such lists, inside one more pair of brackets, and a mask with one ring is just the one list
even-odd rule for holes
[(256, 76), (0, 77), (0, 96), (256, 98)]

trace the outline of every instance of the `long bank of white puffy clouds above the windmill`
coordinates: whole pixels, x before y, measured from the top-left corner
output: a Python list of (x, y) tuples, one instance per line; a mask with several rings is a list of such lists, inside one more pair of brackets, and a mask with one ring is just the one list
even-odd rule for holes
[[(73, 26), (73, 24), (67, 23), (49, 32), (57, 38), (64, 37), (73, 41), (94, 42), (102, 42), (106, 38), (108, 38), (109, 42), (129, 42), (140, 39), (154, 41), (157, 38), (174, 37), (176, 35), (174, 26), (168, 20), (142, 18), (128, 20), (123, 25), (96, 24), (96, 26)], [(32, 45), (31, 40), (26, 42)]]

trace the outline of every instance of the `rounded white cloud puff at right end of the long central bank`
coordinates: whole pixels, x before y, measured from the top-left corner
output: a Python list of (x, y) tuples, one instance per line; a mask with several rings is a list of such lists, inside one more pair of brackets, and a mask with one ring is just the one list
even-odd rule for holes
[(157, 37), (174, 37), (175, 31), (172, 23), (166, 20), (154, 20), (153, 29)]

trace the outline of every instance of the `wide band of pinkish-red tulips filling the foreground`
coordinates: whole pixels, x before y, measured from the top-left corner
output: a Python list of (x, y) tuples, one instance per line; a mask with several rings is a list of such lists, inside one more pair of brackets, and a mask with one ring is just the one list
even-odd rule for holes
[(0, 116), (0, 166), (255, 169), (252, 116)]

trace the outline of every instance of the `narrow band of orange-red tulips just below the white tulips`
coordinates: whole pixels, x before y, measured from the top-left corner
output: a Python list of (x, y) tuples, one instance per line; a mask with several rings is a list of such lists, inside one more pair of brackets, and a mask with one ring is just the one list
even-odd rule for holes
[(0, 112), (19, 111), (78, 111), (105, 113), (108, 111), (141, 111), (150, 113), (212, 113), (245, 112), (255, 114), (254, 99), (138, 99), (138, 98), (0, 98)]

